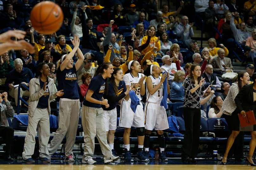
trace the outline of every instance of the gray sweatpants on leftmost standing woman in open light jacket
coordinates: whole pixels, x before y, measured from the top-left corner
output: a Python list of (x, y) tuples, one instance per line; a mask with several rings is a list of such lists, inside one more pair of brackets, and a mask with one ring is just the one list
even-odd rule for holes
[(31, 158), (35, 149), (35, 133), (38, 127), (40, 157), (48, 157), (47, 144), (50, 138), (49, 112), (47, 108), (36, 108), (34, 116), (28, 115), (28, 128), (22, 153), (23, 159)]

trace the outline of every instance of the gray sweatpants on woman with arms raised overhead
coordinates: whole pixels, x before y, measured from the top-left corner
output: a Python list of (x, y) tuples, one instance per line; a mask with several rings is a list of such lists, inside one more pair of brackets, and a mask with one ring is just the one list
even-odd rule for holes
[(48, 146), (50, 156), (58, 150), (65, 135), (65, 156), (73, 155), (72, 150), (76, 140), (79, 110), (79, 101), (59, 101), (59, 128), (55, 132), (50, 146)]

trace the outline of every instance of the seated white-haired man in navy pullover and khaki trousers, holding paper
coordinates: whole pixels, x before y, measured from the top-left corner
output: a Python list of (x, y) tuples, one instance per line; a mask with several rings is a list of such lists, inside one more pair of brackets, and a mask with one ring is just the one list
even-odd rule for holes
[[(34, 74), (29, 68), (23, 67), (23, 62), (20, 58), (14, 60), (14, 69), (7, 75), (5, 84), (9, 87), (9, 95), (15, 99), (15, 104), (18, 104), (18, 88), (14, 85), (24, 84), (29, 86), (29, 81), (34, 78)], [(29, 97), (29, 91), (20, 89), (20, 97)], [(21, 104), (21, 102), (20, 102)]]

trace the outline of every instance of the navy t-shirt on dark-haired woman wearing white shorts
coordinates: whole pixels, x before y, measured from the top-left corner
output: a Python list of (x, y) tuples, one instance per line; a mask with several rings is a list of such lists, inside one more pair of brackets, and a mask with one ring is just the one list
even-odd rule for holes
[(117, 93), (115, 93), (114, 85), (112, 82), (109, 83), (108, 89), (108, 95), (104, 94), (103, 98), (108, 99), (109, 108), (105, 108), (103, 106), (103, 110), (112, 110), (116, 108), (118, 101), (126, 96), (124, 94), (126, 91), (126, 85), (124, 81), (119, 82)]

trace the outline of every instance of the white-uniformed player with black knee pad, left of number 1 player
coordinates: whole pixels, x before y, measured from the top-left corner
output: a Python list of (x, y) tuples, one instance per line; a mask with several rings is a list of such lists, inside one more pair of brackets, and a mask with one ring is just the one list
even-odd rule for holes
[[(141, 95), (145, 94), (145, 76), (144, 74), (140, 73), (140, 63), (132, 60), (128, 63), (129, 73), (124, 75), (124, 81), (126, 88), (130, 86), (134, 87), (135, 94), (141, 101)], [(131, 109), (131, 99), (129, 100), (122, 100), (121, 109), (120, 109), (120, 119), (119, 119), (119, 126), (124, 127), (124, 134), (123, 134), (123, 143), (124, 143), (124, 150), (125, 155), (124, 158), (127, 162), (133, 161), (131, 158), (130, 152), (130, 133), (131, 127), (136, 127), (137, 136), (138, 136), (138, 154), (137, 157), (141, 161), (148, 161), (146, 156), (143, 153), (143, 143), (144, 143), (144, 135), (145, 135), (145, 125), (144, 125), (144, 112), (143, 106), (140, 102), (137, 105), (136, 112), (134, 113)]]

